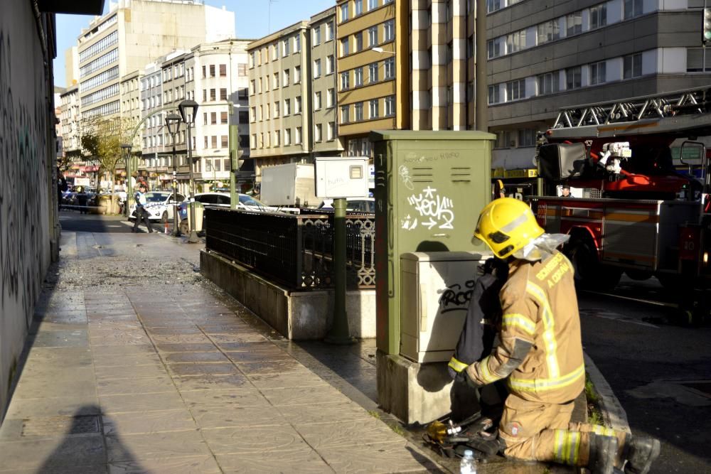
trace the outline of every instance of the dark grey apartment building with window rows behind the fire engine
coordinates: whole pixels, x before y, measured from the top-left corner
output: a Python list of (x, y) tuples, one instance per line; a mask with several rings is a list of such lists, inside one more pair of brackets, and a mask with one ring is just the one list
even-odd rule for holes
[(551, 126), (560, 107), (708, 85), (702, 6), (702, 0), (489, 0), (493, 167), (533, 168), (536, 131)]

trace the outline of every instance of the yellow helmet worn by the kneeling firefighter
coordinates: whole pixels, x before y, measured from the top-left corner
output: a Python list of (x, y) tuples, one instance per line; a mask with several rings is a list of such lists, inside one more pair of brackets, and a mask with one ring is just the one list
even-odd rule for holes
[(518, 199), (500, 198), (483, 208), (474, 237), (486, 242), (496, 257), (505, 259), (542, 233), (528, 204)]

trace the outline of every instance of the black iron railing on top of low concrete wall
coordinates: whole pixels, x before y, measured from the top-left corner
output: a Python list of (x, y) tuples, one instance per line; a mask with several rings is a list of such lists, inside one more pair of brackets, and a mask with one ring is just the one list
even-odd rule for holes
[[(333, 286), (333, 213), (205, 208), (206, 248), (289, 289)], [(375, 288), (375, 218), (346, 217), (346, 284)]]

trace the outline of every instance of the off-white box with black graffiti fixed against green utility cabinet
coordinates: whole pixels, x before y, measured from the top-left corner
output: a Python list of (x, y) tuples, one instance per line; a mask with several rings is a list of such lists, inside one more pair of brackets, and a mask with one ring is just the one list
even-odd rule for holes
[(400, 255), (400, 355), (447, 362), (490, 252), (413, 252)]

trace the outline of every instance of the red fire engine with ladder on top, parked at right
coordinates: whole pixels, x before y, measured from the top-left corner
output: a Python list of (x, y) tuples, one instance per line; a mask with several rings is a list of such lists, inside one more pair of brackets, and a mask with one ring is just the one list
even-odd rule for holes
[[(530, 201), (546, 232), (570, 234), (564, 252), (580, 286), (656, 276), (683, 321), (707, 320), (710, 156), (699, 137), (710, 135), (711, 87), (560, 110), (538, 141)], [(557, 196), (563, 184), (582, 197)]]

